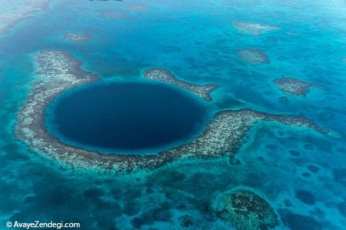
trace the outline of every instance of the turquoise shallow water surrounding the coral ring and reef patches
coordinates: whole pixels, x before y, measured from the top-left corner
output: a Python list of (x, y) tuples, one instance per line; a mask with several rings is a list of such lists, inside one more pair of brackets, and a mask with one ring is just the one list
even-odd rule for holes
[[(254, 36), (239, 32), (234, 21), (281, 30)], [(93, 40), (71, 44), (62, 32), (90, 32)], [(248, 134), (239, 166), (222, 157), (182, 160), (109, 178), (39, 157), (12, 127), (35, 77), (33, 53), (55, 48), (72, 52), (101, 80), (136, 82), (143, 68), (170, 68), (186, 81), (222, 86), (212, 93), (210, 113), (247, 107), (301, 114), (345, 136), (345, 35), (345, 1), (53, 2), (0, 37), (1, 228), (9, 220), (40, 220), (81, 222), (82, 229), (185, 229), (179, 218), (188, 214), (192, 229), (230, 229), (215, 217), (213, 202), (245, 187), (270, 202), (277, 229), (344, 229), (343, 139), (263, 122)], [(239, 48), (264, 49), (271, 64), (248, 65), (238, 59)], [(284, 95), (273, 84), (281, 76), (324, 88), (306, 97)], [(315, 202), (299, 199), (300, 190)]]

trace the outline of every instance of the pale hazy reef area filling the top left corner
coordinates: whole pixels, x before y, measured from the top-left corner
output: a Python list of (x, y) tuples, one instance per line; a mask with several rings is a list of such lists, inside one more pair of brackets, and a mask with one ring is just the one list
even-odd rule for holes
[[(6, 34), (12, 26), (42, 10), (46, 10), (50, 0), (25, 0), (16, 3), (0, 0), (1, 8), (6, 9), (0, 15), (0, 35)], [(6, 7), (8, 6), (8, 7)]]

